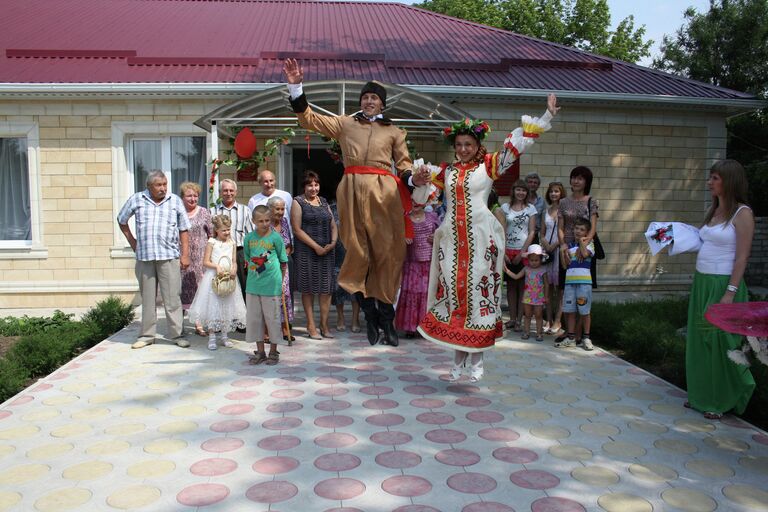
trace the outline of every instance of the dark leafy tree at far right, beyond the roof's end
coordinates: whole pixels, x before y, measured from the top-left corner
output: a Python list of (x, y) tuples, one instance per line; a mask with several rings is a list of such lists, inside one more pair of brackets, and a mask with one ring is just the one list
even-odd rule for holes
[[(768, 97), (768, 2), (710, 0), (688, 8), (674, 37), (664, 36), (653, 67), (720, 87)], [(750, 203), (768, 214), (768, 109), (728, 121), (728, 158), (749, 176)]]

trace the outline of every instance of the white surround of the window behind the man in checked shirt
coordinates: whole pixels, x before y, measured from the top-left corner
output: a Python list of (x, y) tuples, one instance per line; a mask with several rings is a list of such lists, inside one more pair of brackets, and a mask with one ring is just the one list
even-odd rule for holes
[[(205, 137), (205, 161), (211, 160), (211, 134), (197, 126), (191, 121), (120, 121), (112, 123), (112, 183), (114, 184), (112, 194), (113, 219), (117, 219), (123, 204), (135, 192), (134, 171), (133, 171), (133, 141), (134, 140), (161, 140), (161, 161), (163, 165), (171, 161), (171, 137)], [(167, 153), (167, 154), (166, 154)], [(167, 157), (167, 158), (166, 158)], [(179, 183), (170, 183), (172, 178), (171, 169), (163, 167), (163, 172), (169, 178), (169, 190), (177, 193)], [(210, 176), (210, 169), (207, 171)], [(170, 187), (175, 188), (170, 188)], [(133, 219), (129, 225), (135, 233)], [(115, 220), (113, 230), (113, 244), (110, 249), (112, 258), (135, 258), (135, 254), (128, 241), (123, 236)]]

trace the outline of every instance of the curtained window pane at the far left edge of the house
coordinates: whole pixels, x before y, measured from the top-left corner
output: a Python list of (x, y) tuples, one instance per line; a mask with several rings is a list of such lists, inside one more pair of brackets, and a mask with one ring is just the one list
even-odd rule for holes
[(30, 199), (27, 139), (0, 138), (0, 241), (31, 245)]

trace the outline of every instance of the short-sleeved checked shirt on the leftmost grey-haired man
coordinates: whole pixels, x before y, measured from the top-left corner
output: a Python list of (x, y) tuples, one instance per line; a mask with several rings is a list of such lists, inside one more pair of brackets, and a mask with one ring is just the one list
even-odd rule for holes
[(168, 194), (157, 204), (149, 190), (137, 192), (120, 209), (117, 222), (128, 224), (133, 216), (136, 217), (137, 260), (173, 260), (181, 255), (179, 231), (188, 231), (190, 223), (179, 196)]

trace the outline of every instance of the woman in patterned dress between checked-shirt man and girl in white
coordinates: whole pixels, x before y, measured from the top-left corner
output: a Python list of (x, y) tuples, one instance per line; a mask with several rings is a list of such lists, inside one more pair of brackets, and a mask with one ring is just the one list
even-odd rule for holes
[[(195, 299), (197, 285), (203, 277), (203, 255), (208, 238), (213, 236), (211, 226), (211, 213), (208, 208), (198, 205), (200, 199), (200, 185), (192, 181), (185, 181), (179, 186), (181, 200), (187, 210), (189, 218), (189, 266), (181, 271), (181, 307), (189, 310), (189, 306)], [(200, 322), (195, 324), (195, 332), (200, 336), (207, 333)]]

